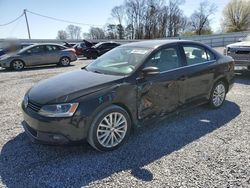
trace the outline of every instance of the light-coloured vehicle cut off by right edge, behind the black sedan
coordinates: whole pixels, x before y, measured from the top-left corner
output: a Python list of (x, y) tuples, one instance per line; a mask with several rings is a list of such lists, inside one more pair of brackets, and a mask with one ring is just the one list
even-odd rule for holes
[(229, 44), (224, 49), (224, 55), (231, 56), (235, 66), (244, 66), (250, 70), (250, 36), (241, 42)]

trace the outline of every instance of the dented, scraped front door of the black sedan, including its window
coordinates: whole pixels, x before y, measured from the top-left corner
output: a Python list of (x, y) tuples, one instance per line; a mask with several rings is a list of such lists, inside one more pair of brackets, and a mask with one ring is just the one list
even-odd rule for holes
[(179, 78), (182, 75), (177, 46), (160, 49), (145, 62), (145, 67), (158, 67), (160, 74), (139, 78), (138, 118), (145, 119), (165, 115), (179, 105)]

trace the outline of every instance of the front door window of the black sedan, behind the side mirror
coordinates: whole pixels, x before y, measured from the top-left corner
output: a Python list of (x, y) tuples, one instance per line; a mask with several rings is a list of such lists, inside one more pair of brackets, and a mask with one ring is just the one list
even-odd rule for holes
[(169, 71), (180, 66), (180, 59), (175, 48), (165, 48), (156, 52), (145, 64), (145, 67), (157, 67), (160, 72)]

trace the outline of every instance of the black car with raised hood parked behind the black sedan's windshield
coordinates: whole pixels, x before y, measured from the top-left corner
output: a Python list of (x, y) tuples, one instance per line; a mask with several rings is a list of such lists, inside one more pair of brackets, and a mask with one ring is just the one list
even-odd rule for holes
[(120, 44), (116, 42), (99, 42), (91, 48), (85, 49), (83, 56), (87, 57), (87, 59), (96, 59), (117, 46), (120, 46)]

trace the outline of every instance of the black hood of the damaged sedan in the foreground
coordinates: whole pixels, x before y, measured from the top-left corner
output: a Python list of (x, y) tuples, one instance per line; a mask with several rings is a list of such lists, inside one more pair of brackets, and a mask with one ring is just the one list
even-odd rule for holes
[(123, 76), (105, 75), (85, 69), (72, 71), (38, 82), (28, 92), (29, 100), (44, 104), (65, 103), (115, 85)]

